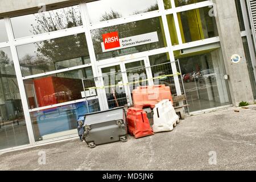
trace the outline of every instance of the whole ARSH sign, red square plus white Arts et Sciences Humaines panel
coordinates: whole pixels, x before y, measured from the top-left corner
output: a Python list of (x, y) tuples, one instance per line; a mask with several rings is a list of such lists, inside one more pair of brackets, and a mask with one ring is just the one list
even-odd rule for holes
[(102, 52), (115, 51), (118, 49), (159, 42), (157, 32), (130, 36), (122, 39), (119, 39), (118, 32), (111, 32), (108, 34), (103, 34), (102, 39), (104, 41), (101, 43)]

